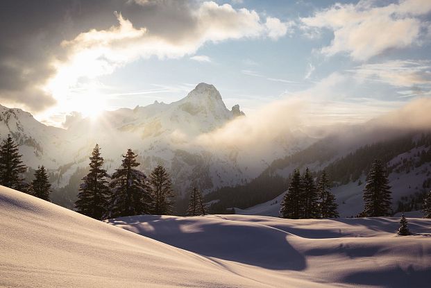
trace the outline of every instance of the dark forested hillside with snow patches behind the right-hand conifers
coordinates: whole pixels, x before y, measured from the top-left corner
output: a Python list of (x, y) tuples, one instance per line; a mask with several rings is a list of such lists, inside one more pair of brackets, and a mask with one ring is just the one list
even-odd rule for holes
[[(333, 138), (339, 143), (335, 144)], [(289, 174), (296, 168), (303, 171), (305, 167), (309, 167), (315, 178), (319, 177), (323, 169), (326, 170), (333, 184), (332, 193), (337, 198), (340, 216), (352, 217), (362, 212), (364, 208), (362, 195), (366, 174), (371, 162), (380, 159), (387, 163), (392, 210), (394, 212), (421, 210), (423, 196), (431, 189), (431, 133), (428, 130), (404, 132), (381, 142), (375, 142), (373, 137), (366, 138), (369, 139), (368, 143), (359, 147), (357, 144), (351, 144), (351, 140), (339, 141), (339, 137), (322, 139), (303, 151), (274, 161), (256, 178), (259, 182), (252, 181), (242, 187), (225, 189), (226, 191), (220, 189), (209, 194), (207, 201), (217, 203), (221, 209), (235, 207), (237, 214), (276, 217), (284, 192), (289, 186)], [(250, 192), (251, 196), (260, 195), (263, 201), (243, 205), (230, 197), (243, 190)], [(223, 205), (221, 201), (217, 202), (219, 199), (223, 201)], [(221, 209), (212, 212), (223, 212)]]

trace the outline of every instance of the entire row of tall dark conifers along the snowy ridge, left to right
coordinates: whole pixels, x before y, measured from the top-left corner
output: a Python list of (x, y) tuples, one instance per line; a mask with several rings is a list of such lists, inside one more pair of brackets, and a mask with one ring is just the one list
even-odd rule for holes
[[(122, 155), (121, 166), (110, 176), (103, 169), (103, 158), (98, 144), (90, 157), (90, 172), (79, 187), (76, 210), (94, 219), (133, 216), (137, 214), (172, 214), (174, 192), (169, 173), (163, 166), (153, 169), (149, 178), (136, 169), (140, 165), (137, 155), (128, 149)], [(51, 184), (44, 166), (34, 172), (27, 183), (22, 176), (26, 165), (22, 163), (19, 146), (8, 135), (0, 145), (0, 185), (26, 192), (49, 201)], [(290, 219), (339, 217), (334, 194), (326, 171), (314, 182), (310, 169), (301, 175), (296, 169), (291, 175), (289, 189), (282, 201), (280, 217)], [(364, 188), (364, 211), (358, 217), (390, 216), (391, 191), (387, 169), (380, 160), (371, 164)], [(189, 198), (187, 215), (205, 215), (206, 207), (201, 192), (194, 187)], [(431, 218), (431, 192), (423, 204), (425, 218)]]

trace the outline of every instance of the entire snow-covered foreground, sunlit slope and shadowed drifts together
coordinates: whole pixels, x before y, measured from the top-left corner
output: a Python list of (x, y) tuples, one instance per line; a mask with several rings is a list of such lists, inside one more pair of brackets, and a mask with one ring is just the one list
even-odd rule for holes
[(409, 219), (408, 237), (395, 218), (109, 225), (6, 187), (0, 219), (0, 287), (428, 287), (431, 273), (429, 219)]

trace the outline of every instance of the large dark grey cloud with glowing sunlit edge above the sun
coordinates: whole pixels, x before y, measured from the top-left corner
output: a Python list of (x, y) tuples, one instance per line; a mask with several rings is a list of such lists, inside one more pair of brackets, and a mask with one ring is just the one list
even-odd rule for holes
[(63, 101), (78, 78), (137, 58), (193, 56), (206, 42), (284, 33), (275, 18), (212, 1), (10, 1), (0, 18), (0, 101), (31, 112)]

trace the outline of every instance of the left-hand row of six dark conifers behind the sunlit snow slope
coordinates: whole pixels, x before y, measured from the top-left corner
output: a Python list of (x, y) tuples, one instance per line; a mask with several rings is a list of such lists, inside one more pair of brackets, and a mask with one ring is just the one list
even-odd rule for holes
[[(112, 175), (103, 169), (103, 157), (98, 144), (90, 157), (90, 171), (78, 189), (76, 211), (94, 219), (108, 219), (140, 214), (172, 214), (174, 191), (169, 173), (162, 165), (147, 177), (137, 167), (137, 154), (128, 149), (122, 155), (121, 166)], [(8, 135), (0, 146), (0, 185), (26, 192), (49, 201), (51, 184), (44, 166), (34, 173), (34, 180), (26, 183), (19, 147)], [(190, 194), (189, 216), (205, 215), (201, 192), (194, 187)]]

